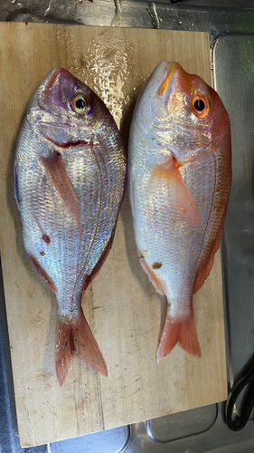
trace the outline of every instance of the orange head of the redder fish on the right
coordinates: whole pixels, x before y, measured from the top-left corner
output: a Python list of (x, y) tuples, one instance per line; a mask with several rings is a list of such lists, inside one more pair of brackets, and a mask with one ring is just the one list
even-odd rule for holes
[(153, 137), (162, 153), (169, 150), (176, 159), (183, 159), (206, 144), (211, 147), (211, 140), (217, 148), (230, 142), (230, 120), (218, 93), (198, 75), (185, 72), (179, 63), (158, 64), (141, 99), (136, 122), (143, 124), (146, 135)]

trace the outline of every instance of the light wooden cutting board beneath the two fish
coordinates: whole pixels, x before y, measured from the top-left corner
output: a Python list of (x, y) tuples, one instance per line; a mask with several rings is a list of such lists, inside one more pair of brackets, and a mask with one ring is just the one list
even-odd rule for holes
[(194, 296), (202, 359), (176, 346), (156, 362), (165, 298), (138, 263), (128, 199), (113, 248), (82, 299), (108, 378), (75, 359), (60, 388), (55, 374), (56, 299), (24, 252), (14, 202), (14, 146), (27, 104), (53, 66), (99, 94), (127, 140), (141, 85), (164, 60), (211, 84), (209, 35), (57, 24), (0, 24), (0, 246), (22, 447), (189, 410), (227, 398), (221, 255)]

